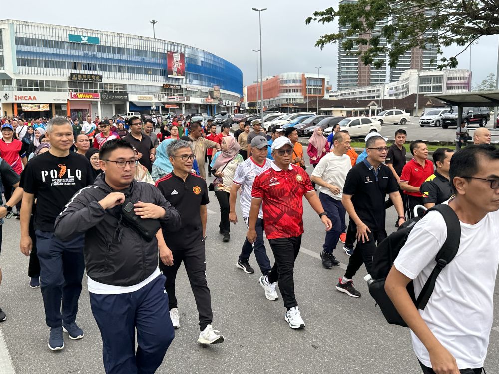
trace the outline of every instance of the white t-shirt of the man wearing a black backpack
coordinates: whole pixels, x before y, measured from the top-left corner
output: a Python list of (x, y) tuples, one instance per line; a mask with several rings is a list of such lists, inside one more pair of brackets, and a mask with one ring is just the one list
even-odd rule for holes
[[(447, 202), (445, 202), (447, 204)], [(442, 270), (424, 310), (419, 313), (459, 369), (484, 365), (493, 322), (493, 294), (499, 264), (499, 211), (471, 225), (460, 222), (461, 241), (454, 259)], [(414, 280), (416, 297), (435, 267), (447, 237), (439, 212), (430, 212), (412, 229), (394, 265)], [(411, 331), (414, 352), (431, 367), (428, 351)]]

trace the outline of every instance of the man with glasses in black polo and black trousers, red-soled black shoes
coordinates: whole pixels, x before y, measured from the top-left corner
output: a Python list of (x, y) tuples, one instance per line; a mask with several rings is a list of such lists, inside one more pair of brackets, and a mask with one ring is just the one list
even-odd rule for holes
[(366, 141), (367, 157), (348, 172), (341, 202), (350, 217), (350, 224), (357, 226), (357, 245), (348, 259), (345, 275), (336, 289), (351, 297), (360, 297), (353, 286), (353, 277), (362, 264), (369, 273), (376, 244), (386, 238), (385, 197), (388, 194), (399, 215), (398, 223), (405, 222), (404, 207), (397, 180), (385, 165), (388, 147), (381, 136)]

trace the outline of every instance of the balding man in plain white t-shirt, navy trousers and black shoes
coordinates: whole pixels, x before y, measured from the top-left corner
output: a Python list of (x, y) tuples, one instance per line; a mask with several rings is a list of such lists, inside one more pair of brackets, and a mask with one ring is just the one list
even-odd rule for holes
[(310, 179), (318, 185), (319, 199), (327, 217), (333, 223), (333, 228), (326, 232), (320, 258), (322, 266), (331, 269), (339, 266), (339, 261), (333, 256), (333, 250), (345, 232), (345, 208), (341, 203), (346, 175), (352, 169), (350, 157), (346, 154), (350, 149), (350, 135), (341, 131), (334, 134), (334, 148), (317, 163)]

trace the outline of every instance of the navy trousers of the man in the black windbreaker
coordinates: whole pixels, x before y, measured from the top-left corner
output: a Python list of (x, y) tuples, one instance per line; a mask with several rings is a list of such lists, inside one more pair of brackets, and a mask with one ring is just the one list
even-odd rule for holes
[(102, 336), (106, 373), (155, 373), (175, 336), (165, 277), (159, 275), (135, 292), (116, 295), (90, 293), (90, 306)]

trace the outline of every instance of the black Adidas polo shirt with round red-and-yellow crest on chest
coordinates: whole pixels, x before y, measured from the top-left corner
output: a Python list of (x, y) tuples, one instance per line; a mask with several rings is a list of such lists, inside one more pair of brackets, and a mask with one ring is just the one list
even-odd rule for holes
[(170, 249), (192, 248), (202, 243), (203, 226), (200, 206), (210, 202), (205, 180), (189, 173), (186, 181), (169, 173), (156, 182), (156, 187), (167, 201), (178, 210), (182, 227), (175, 233), (164, 232), (166, 245)]

